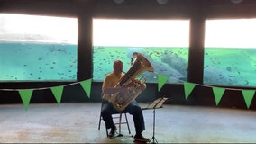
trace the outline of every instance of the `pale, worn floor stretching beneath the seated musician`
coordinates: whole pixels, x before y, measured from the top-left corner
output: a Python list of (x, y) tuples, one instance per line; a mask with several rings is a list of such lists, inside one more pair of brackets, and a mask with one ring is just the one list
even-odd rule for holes
[[(125, 125), (124, 137), (106, 138), (104, 122), (97, 129), (99, 111), (100, 103), (31, 103), (27, 111), (23, 104), (2, 104), (0, 142), (133, 143)], [(151, 139), (153, 110), (143, 110), (143, 114), (143, 135)], [(159, 143), (256, 142), (255, 111), (165, 104), (155, 114)], [(132, 116), (127, 116), (134, 134)]]

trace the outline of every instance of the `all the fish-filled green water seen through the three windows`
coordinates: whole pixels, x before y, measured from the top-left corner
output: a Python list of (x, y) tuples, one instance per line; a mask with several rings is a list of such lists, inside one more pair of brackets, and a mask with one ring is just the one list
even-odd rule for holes
[[(0, 81), (76, 81), (77, 45), (58, 43), (0, 42)], [(154, 67), (144, 72), (147, 83), (158, 83), (158, 74), (167, 83), (187, 81), (188, 48), (183, 47), (93, 47), (93, 80), (103, 81), (116, 59), (123, 71), (131, 67), (133, 52), (142, 53)], [(205, 85), (256, 85), (256, 49), (206, 48)]]

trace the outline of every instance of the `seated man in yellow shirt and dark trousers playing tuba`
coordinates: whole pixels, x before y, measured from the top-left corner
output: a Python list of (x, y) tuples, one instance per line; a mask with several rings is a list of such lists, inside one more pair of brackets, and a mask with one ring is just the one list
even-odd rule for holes
[[(114, 87), (117, 85), (118, 81), (124, 76), (123, 75), (123, 62), (120, 60), (114, 61), (113, 72), (105, 76), (105, 80), (102, 85), (103, 92), (103, 105), (101, 116), (105, 121), (106, 129), (111, 129), (109, 132), (109, 137), (114, 137), (116, 127), (114, 125), (114, 121), (112, 118), (113, 113), (118, 113), (113, 105), (110, 103), (111, 94), (115, 94), (117, 92), (128, 94), (128, 89), (126, 87)], [(142, 88), (145, 88), (146, 85), (143, 85)], [(142, 109), (136, 101), (130, 103), (123, 112), (129, 112), (133, 115), (134, 127), (136, 134), (134, 136), (134, 140), (148, 142), (149, 139), (146, 139), (142, 136), (142, 131), (145, 130), (144, 118), (142, 114)]]

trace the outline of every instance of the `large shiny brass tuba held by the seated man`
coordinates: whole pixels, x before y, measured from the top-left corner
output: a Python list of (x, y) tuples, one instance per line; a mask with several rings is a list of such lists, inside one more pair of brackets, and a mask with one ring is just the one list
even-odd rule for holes
[(127, 87), (129, 93), (124, 95), (122, 93), (115, 93), (111, 95), (111, 103), (114, 109), (118, 112), (123, 111), (135, 98), (142, 93), (146, 78), (135, 79), (145, 71), (153, 72), (154, 68), (151, 62), (142, 56), (142, 54), (133, 53), (133, 65), (130, 67), (127, 73), (118, 81), (115, 87)]

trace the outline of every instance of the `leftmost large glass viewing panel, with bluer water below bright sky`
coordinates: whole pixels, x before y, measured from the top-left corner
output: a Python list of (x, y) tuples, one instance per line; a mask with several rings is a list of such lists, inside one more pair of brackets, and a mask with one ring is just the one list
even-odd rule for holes
[(76, 81), (77, 18), (0, 14), (0, 81)]

